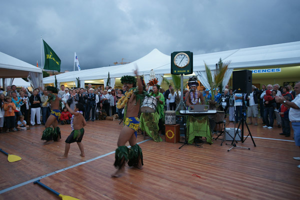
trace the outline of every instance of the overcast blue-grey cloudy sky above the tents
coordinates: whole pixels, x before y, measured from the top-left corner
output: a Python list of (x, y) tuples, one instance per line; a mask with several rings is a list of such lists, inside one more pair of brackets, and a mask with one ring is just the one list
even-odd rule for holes
[[(61, 71), (134, 61), (152, 49), (202, 54), (300, 40), (300, 0), (3, 0), (0, 51)], [(43, 47), (42, 47), (43, 57)], [(217, 60), (216, 60), (217, 61)]]

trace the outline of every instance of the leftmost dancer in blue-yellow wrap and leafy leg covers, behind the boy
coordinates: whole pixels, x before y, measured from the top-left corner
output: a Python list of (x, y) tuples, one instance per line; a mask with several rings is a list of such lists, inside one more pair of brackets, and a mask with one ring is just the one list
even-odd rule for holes
[[(60, 129), (57, 126), (60, 117), (59, 97), (57, 96), (57, 89), (53, 86), (47, 86), (46, 91), (43, 92), (44, 95), (48, 96), (47, 101), (45, 101), (44, 103), (50, 103), (51, 114), (46, 120), (45, 129), (42, 132), (41, 139), (46, 140), (45, 143), (48, 143), (48, 141), (50, 140), (59, 141), (61, 135)], [(51, 128), (50, 125), (52, 125), (53, 128)]]

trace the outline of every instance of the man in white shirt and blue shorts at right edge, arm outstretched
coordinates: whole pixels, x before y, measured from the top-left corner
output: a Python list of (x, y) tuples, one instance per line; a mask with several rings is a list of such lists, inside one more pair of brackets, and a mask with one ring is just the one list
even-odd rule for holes
[[(296, 96), (292, 101), (287, 101), (281, 96), (276, 97), (276, 101), (290, 107), (288, 118), (294, 131), (295, 144), (300, 147), (300, 81), (296, 82), (294, 91)], [(293, 157), (293, 159), (300, 160), (300, 157)], [(297, 167), (300, 168), (300, 164)]]

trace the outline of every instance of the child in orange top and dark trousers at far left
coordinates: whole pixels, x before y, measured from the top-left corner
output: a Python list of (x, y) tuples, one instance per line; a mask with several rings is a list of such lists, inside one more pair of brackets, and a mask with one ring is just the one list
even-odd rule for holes
[(17, 129), (14, 127), (14, 109), (15, 109), (15, 104), (11, 102), (11, 97), (6, 96), (6, 101), (4, 102), (4, 118), (6, 122), (6, 127), (7, 130), (6, 132), (10, 131), (17, 131)]

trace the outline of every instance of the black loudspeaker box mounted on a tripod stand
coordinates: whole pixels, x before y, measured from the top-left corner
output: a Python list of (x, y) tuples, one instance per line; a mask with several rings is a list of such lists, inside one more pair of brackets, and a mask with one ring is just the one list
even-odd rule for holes
[(235, 93), (251, 93), (252, 92), (252, 71), (239, 70), (232, 72), (233, 91)]

